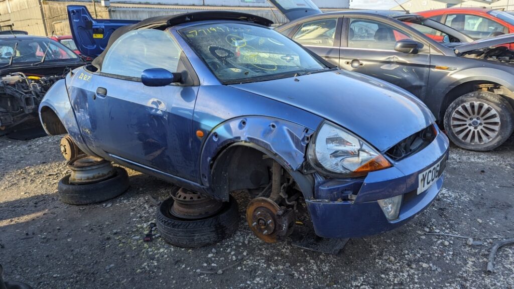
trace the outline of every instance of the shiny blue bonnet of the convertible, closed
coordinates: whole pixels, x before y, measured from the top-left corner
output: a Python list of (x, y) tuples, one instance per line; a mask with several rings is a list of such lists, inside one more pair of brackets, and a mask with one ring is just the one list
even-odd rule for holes
[(403, 89), (344, 70), (230, 86), (314, 113), (380, 151), (435, 121), (428, 107)]

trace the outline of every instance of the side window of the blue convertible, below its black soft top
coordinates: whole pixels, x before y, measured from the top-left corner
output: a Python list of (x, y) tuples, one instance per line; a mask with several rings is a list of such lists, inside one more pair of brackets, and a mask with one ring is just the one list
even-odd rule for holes
[(141, 77), (149, 68), (177, 71), (181, 49), (166, 31), (139, 29), (123, 34), (107, 51), (102, 72)]

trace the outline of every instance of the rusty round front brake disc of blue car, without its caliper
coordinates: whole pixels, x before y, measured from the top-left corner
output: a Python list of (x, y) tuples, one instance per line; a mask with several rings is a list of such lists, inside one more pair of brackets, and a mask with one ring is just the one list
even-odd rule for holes
[(254, 198), (246, 209), (248, 226), (266, 243), (277, 242), (277, 213), (279, 205), (266, 197)]

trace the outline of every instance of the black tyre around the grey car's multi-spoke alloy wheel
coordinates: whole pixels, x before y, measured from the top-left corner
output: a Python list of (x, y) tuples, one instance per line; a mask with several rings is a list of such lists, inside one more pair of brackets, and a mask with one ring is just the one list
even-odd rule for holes
[[(498, 117), (500, 118), (498, 134), (485, 143), (470, 143), (461, 140), (451, 127), (452, 115), (455, 110), (461, 107), (461, 105), (471, 101), (479, 101), (489, 105), (498, 113)], [(457, 98), (448, 106), (444, 117), (444, 125), (448, 138), (450, 138), (456, 146), (472, 151), (490, 151), (501, 146), (512, 134), (514, 130), (513, 122), (514, 111), (508, 101), (500, 95), (485, 91), (471, 92)], [(455, 130), (457, 133), (462, 132), (458, 129)]]

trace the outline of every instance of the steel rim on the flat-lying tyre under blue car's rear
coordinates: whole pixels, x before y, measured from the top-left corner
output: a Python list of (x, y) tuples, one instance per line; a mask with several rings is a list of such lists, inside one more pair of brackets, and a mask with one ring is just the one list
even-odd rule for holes
[(71, 169), (69, 183), (75, 185), (101, 182), (116, 174), (110, 161), (96, 156), (79, 156), (69, 160), (67, 165)]

